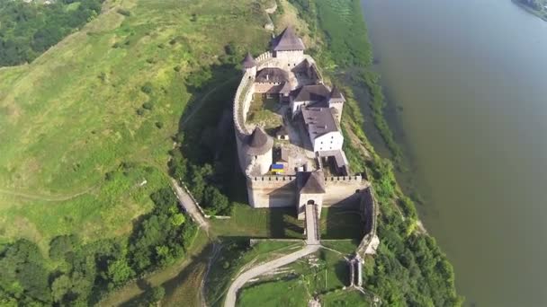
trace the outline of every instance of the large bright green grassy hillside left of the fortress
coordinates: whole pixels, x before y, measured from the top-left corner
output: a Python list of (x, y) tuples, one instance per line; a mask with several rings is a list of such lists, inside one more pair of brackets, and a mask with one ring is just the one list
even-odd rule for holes
[[(151, 207), (149, 192), (166, 185), (170, 136), (193, 99), (184, 78), (216, 63), (231, 40), (265, 43), (264, 15), (249, 3), (109, 1), (31, 65), (0, 69), (0, 239), (45, 248), (60, 233), (129, 232)], [(149, 94), (140, 90), (147, 82)], [(153, 110), (139, 116), (146, 101)], [(143, 170), (105, 183), (121, 162)]]

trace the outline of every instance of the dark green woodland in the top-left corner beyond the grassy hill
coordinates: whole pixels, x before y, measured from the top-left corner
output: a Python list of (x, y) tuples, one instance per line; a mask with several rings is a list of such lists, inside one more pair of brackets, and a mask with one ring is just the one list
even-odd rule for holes
[(30, 63), (101, 12), (103, 0), (0, 1), (0, 67)]

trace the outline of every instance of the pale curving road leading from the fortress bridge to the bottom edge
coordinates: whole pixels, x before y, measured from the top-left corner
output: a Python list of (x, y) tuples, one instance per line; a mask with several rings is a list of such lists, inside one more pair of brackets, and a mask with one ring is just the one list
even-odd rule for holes
[(261, 276), (266, 272), (269, 272), (275, 268), (281, 268), (288, 265), (291, 262), (296, 261), (304, 256), (307, 256), (313, 252), (318, 251), (321, 248), (320, 245), (308, 245), (302, 250), (295, 251), (280, 259), (275, 259), (270, 262), (266, 262), (263, 265), (249, 269), (247, 272), (241, 274), (234, 280), (232, 285), (229, 286), (228, 294), (226, 294), (226, 301), (224, 301), (224, 307), (235, 307), (238, 299), (239, 289), (247, 283), (248, 280)]

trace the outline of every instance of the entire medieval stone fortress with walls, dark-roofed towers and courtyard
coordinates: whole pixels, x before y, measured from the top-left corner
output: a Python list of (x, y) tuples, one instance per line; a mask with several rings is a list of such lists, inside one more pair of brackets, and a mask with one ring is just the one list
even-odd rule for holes
[[(363, 174), (352, 174), (343, 150), (344, 95), (323, 82), (304, 50), (287, 28), (269, 51), (247, 54), (233, 105), (249, 204), (294, 206), (299, 219), (307, 205), (320, 215), (322, 206), (359, 202), (370, 187)], [(265, 109), (267, 116), (260, 113)]]

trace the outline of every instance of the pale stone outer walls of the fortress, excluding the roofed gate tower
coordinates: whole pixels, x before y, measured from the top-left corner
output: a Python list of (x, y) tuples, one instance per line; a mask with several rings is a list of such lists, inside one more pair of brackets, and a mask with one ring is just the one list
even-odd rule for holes
[[(256, 72), (265, 67), (291, 69), (291, 67), (299, 65), (305, 60), (315, 65), (315, 60), (302, 51), (283, 52), (281, 54), (266, 51), (255, 58), (256, 67), (245, 70), (234, 97), (233, 120), (238, 145), (238, 160), (241, 171), (245, 173), (247, 178), (249, 204), (253, 207), (295, 206), (298, 200), (296, 176), (252, 175), (253, 170), (256, 169), (260, 170), (261, 174), (269, 171), (271, 158), (268, 162), (268, 159), (264, 159), (263, 156), (250, 156), (243, 150), (246, 138), (251, 135), (255, 128), (246, 122), (246, 118), (255, 92)], [(295, 79), (290, 82), (291, 87), (300, 85), (298, 80)], [(265, 153), (266, 155), (271, 157), (272, 152)], [(368, 186), (369, 182), (363, 180), (360, 175), (327, 177), (325, 179), (326, 193), (322, 206), (339, 206), (345, 202), (358, 200), (358, 191), (366, 189)]]

